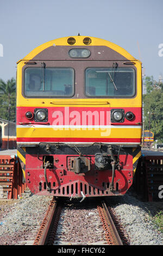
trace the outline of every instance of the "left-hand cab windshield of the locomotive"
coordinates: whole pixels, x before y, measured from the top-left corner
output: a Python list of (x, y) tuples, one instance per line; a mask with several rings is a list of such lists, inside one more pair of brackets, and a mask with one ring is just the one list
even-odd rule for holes
[(72, 68), (27, 68), (24, 94), (27, 97), (71, 97), (74, 94)]

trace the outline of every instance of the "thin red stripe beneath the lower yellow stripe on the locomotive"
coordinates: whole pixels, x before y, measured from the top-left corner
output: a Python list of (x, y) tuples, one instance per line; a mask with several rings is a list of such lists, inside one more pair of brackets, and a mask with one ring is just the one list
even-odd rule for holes
[(140, 138), (17, 138), (17, 142), (135, 142), (141, 143)]

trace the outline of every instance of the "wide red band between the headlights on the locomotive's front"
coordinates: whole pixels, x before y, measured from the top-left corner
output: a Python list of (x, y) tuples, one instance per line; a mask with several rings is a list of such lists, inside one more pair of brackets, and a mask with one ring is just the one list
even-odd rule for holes
[[(42, 107), (43, 108), (43, 107)], [(48, 123), (53, 125), (110, 125), (111, 107), (46, 107), (48, 109)], [(35, 123), (34, 119), (28, 120), (26, 112), (34, 113), (35, 107), (17, 107), (17, 125), (19, 123)], [(115, 107), (114, 109), (122, 109)], [(124, 118), (121, 125), (135, 125), (142, 122), (141, 107), (124, 107), (124, 113), (132, 111), (135, 118), (131, 121)], [(112, 123), (115, 124), (115, 123)], [(117, 124), (117, 123), (116, 123)]]

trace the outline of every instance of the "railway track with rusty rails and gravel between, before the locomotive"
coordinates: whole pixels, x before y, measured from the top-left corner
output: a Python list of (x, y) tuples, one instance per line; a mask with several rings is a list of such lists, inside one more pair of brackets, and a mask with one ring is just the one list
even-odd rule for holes
[[(94, 225), (93, 234), (95, 234), (95, 237), (96, 232), (98, 233), (98, 237), (102, 236), (101, 241), (94, 244), (127, 244), (122, 229), (120, 228), (120, 225), (118, 225), (118, 222), (115, 220), (114, 214), (111, 212), (111, 208), (109, 208), (109, 206), (104, 201), (99, 201), (96, 204), (94, 203), (94, 205), (91, 207), (92, 208), (90, 210), (90, 206), (89, 209), (85, 209), (85, 207), (81, 206), (81, 204), (80, 206), (70, 203), (69, 205), (67, 205), (67, 202), (65, 202), (64, 200), (55, 200), (53, 198), (51, 204), (49, 205), (45, 218), (42, 221), (41, 227), (39, 229), (39, 232), (37, 233), (33, 245), (72, 245), (72, 241), (73, 245), (84, 245), (85, 234), (88, 232), (88, 234), (90, 234), (91, 236), (91, 228), (93, 226), (85, 226), (86, 224), (82, 214), (84, 214), (84, 216), (87, 218), (86, 222)], [(66, 219), (66, 221), (64, 219)], [(95, 223), (97, 221), (98, 223)], [(79, 240), (79, 238), (77, 239), (78, 231), (75, 230), (77, 227), (80, 231), (79, 236), (82, 236), (82, 240)], [(103, 230), (101, 231), (100, 228), (102, 227)], [(81, 235), (82, 232), (83, 234)], [(66, 234), (68, 234), (68, 236), (66, 236)], [(80, 243), (77, 243), (74, 240)]]

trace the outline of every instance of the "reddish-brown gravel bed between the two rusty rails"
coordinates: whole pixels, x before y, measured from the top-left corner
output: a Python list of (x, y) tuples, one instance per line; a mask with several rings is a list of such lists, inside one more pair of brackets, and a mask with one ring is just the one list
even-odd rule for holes
[(96, 205), (65, 203), (54, 245), (106, 245), (103, 223)]

